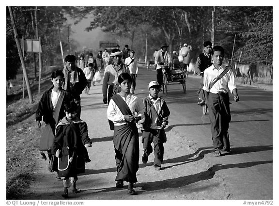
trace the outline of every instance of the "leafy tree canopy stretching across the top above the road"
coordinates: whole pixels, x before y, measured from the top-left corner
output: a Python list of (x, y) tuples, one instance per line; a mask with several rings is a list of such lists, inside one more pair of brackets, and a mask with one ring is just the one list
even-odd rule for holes
[[(35, 7), (13, 7), (19, 38), (34, 38)], [(170, 45), (170, 50), (179, 50), (187, 43), (194, 48), (194, 56), (202, 52), (204, 41), (211, 40), (212, 12), (215, 14), (215, 45), (225, 48), (231, 58), (233, 40), (236, 37), (233, 60), (241, 62), (272, 62), (272, 7), (38, 7), (38, 32), (42, 38), (44, 62), (53, 64), (61, 61), (58, 29), (61, 29), (62, 45), (65, 52), (73, 52), (75, 42), (69, 45), (70, 27), (67, 18), (77, 24), (83, 18), (93, 17), (86, 31), (101, 28), (115, 39), (125, 39), (126, 44), (145, 54), (146, 36), (148, 56), (152, 58), (161, 44)], [(19, 67), (16, 44), (7, 12), (7, 79), (15, 77)], [(29, 55), (29, 54), (27, 54)], [(32, 59), (28, 56), (29, 60)], [(61, 61), (62, 63), (62, 61)]]

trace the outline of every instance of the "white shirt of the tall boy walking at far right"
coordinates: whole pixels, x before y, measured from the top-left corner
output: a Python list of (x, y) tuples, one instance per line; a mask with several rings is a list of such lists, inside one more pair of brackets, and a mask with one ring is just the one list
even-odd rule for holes
[(214, 64), (204, 70), (203, 74), (203, 87), (206, 92), (217, 94), (218, 92), (228, 93), (229, 90), (233, 93), (233, 89), (236, 89), (235, 80), (233, 76), (233, 70), (230, 69), (221, 79), (219, 79), (209, 91), (209, 84), (213, 82), (224, 71), (225, 65), (221, 65), (218, 69)]

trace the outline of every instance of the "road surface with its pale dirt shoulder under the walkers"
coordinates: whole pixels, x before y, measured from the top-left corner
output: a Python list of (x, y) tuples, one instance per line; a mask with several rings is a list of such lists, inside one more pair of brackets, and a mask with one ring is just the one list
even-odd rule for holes
[[(136, 95), (148, 94), (147, 85), (156, 72), (140, 68)], [(102, 102), (101, 83), (90, 95), (81, 95), (81, 119), (89, 127), (93, 147), (92, 162), (78, 180), (79, 194), (72, 199), (272, 199), (272, 92), (239, 86), (240, 101), (232, 101), (230, 140), (232, 153), (213, 157), (210, 122), (197, 105), (199, 79), (189, 75), (186, 94), (182, 85), (169, 85), (169, 94), (161, 94), (171, 111), (167, 127), (163, 170), (155, 171), (151, 155), (142, 164), (135, 185), (138, 195), (115, 188), (113, 132), (106, 118), (107, 105)], [(231, 98), (232, 99), (232, 98)], [(141, 137), (140, 137), (141, 140)], [(140, 157), (143, 149), (140, 143)], [(26, 199), (60, 199), (62, 183), (42, 163), (39, 183), (33, 184), (33, 195)], [(48, 181), (49, 187), (40, 189)]]

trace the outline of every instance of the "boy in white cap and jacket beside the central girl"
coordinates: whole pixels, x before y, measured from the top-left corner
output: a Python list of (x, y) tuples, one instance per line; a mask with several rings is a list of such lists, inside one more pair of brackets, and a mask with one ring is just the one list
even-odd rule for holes
[(164, 159), (164, 145), (167, 136), (164, 128), (169, 124), (170, 110), (165, 100), (158, 96), (160, 85), (151, 81), (148, 85), (149, 95), (143, 99), (146, 119), (150, 119), (150, 125), (142, 131), (142, 143), (144, 153), (142, 162), (148, 161), (148, 156), (153, 152), (151, 143), (154, 143), (154, 168), (160, 170)]

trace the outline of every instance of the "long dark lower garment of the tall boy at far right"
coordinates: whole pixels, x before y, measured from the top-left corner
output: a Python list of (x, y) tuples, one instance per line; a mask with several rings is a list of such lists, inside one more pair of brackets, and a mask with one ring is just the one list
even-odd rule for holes
[(214, 150), (230, 151), (229, 122), (231, 121), (228, 93), (209, 93), (208, 114), (211, 122), (211, 135)]

